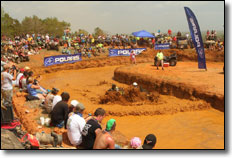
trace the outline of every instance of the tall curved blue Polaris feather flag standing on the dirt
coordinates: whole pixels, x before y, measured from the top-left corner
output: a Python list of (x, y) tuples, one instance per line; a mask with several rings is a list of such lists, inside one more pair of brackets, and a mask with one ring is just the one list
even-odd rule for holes
[(188, 20), (189, 30), (193, 39), (193, 44), (198, 54), (198, 68), (207, 69), (205, 62), (204, 45), (201, 37), (201, 30), (198, 25), (197, 19), (194, 13), (191, 11), (191, 9), (189, 9), (188, 7), (184, 7), (184, 9)]

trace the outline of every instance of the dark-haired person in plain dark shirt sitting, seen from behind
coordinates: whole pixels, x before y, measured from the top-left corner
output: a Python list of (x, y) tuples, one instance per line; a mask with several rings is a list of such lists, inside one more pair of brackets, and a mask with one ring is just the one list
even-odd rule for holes
[(68, 119), (68, 100), (69, 93), (63, 92), (61, 94), (62, 101), (58, 102), (51, 112), (51, 124), (59, 128), (65, 127)]

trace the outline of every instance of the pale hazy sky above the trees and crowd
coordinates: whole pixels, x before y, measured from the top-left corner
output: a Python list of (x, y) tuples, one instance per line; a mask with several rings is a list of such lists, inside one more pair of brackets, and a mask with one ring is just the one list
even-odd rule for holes
[(109, 34), (131, 34), (159, 29), (189, 31), (184, 7), (197, 17), (201, 31), (224, 30), (224, 1), (1, 1), (4, 11), (22, 21), (25, 16), (57, 17), (71, 24), (71, 31), (96, 27)]

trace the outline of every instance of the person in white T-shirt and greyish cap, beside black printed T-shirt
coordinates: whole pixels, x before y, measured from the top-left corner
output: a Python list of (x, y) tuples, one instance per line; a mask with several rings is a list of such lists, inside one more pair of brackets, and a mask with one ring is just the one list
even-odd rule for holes
[[(75, 102), (75, 104), (77, 101)], [(81, 132), (84, 129), (86, 124), (85, 119), (83, 118), (83, 112), (85, 106), (82, 103), (77, 103), (73, 112), (68, 118), (67, 121), (67, 135), (70, 143), (78, 148), (78, 145), (82, 143)]]

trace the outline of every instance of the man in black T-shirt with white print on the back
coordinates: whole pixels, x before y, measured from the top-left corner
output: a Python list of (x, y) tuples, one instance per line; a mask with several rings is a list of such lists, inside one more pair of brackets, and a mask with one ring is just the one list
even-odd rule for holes
[(78, 146), (79, 149), (93, 149), (96, 135), (102, 130), (100, 123), (104, 119), (105, 113), (104, 109), (97, 108), (94, 112), (94, 116), (86, 122), (81, 132), (82, 143)]

